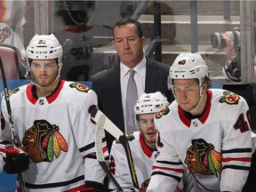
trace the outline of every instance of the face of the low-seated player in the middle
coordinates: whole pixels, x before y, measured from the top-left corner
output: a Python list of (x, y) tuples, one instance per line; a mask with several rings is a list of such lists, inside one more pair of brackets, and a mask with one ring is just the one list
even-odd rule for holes
[(140, 132), (147, 144), (156, 145), (156, 125), (154, 117), (156, 114), (141, 114), (139, 116)]

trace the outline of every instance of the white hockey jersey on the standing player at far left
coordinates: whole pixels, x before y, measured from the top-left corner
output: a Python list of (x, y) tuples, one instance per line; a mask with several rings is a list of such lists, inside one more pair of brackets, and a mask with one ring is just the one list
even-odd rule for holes
[[(15, 132), (30, 156), (29, 169), (22, 172), (26, 191), (79, 191), (84, 180), (102, 184), (105, 173), (96, 160), (90, 116), (90, 108), (97, 106), (95, 92), (64, 80), (46, 98), (36, 98), (34, 88), (23, 85), (10, 96)], [(11, 140), (5, 100), (2, 112), (2, 140)]]

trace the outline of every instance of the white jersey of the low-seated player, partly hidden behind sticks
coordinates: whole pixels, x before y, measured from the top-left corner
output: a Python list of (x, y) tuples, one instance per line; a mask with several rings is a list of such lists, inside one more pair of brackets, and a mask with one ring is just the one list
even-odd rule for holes
[[(148, 148), (140, 132), (133, 132), (132, 135), (134, 140), (129, 141), (129, 145), (132, 151), (133, 164), (140, 191), (146, 191), (151, 177), (152, 165), (156, 162), (156, 156), (158, 156), (159, 152)], [(121, 143), (116, 142), (116, 140), (113, 141), (110, 152), (109, 170), (113, 173), (117, 183), (124, 191), (134, 191), (124, 147)], [(108, 188), (115, 190), (111, 182), (109, 182)], [(183, 190), (183, 180), (180, 182), (179, 188), (176, 188), (177, 192), (181, 190)], [(189, 189), (187, 191), (191, 192), (192, 190)]]

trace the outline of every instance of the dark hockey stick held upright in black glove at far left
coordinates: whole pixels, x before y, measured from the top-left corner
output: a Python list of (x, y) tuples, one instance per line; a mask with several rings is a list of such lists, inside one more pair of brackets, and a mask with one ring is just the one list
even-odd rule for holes
[[(5, 98), (10, 128), (11, 128), (11, 132), (12, 132), (12, 144), (13, 144), (13, 147), (15, 148), (15, 150), (19, 150), (16, 145), (21, 146), (21, 144), (20, 144), (20, 140), (17, 139), (16, 133), (14, 130), (14, 123), (12, 121), (12, 109), (11, 109), (11, 103), (10, 103), (10, 95), (9, 95), (9, 91), (7, 88), (7, 83), (6, 83), (5, 73), (4, 73), (4, 64), (3, 64), (3, 60), (2, 60), (1, 56), (0, 56), (0, 68), (1, 68), (3, 86), (4, 86), (4, 98)], [(19, 183), (20, 183), (20, 191), (23, 192), (23, 191), (25, 191), (25, 188), (24, 188), (24, 183), (23, 183), (21, 172), (18, 173), (18, 176), (19, 176)]]

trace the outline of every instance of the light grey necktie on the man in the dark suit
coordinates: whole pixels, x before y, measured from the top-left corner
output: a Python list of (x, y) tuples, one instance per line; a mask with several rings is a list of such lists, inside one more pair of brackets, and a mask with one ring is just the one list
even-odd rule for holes
[(129, 70), (130, 77), (127, 84), (126, 92), (126, 131), (135, 132), (138, 131), (135, 124), (133, 123), (132, 114), (134, 113), (134, 106), (138, 100), (137, 86), (134, 80), (135, 71), (133, 69)]

